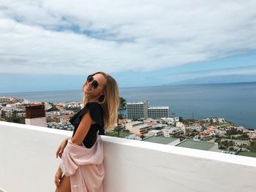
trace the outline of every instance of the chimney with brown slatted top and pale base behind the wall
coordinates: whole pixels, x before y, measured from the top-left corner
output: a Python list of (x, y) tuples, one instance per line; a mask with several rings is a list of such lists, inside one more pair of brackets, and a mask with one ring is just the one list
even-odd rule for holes
[(44, 104), (30, 104), (26, 106), (25, 123), (31, 126), (47, 127)]

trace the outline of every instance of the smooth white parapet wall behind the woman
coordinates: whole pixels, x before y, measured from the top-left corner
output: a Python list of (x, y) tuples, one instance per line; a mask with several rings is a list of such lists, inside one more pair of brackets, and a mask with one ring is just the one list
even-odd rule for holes
[[(0, 122), (0, 191), (54, 191), (56, 148), (71, 136)], [(102, 136), (105, 192), (251, 192), (256, 158)]]

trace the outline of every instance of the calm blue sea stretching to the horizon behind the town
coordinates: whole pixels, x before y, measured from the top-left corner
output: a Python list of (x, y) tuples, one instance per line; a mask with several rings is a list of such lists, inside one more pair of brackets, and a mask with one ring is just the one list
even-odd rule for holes
[[(148, 100), (150, 107), (168, 106), (182, 118), (225, 118), (236, 126), (256, 129), (256, 82), (203, 85), (159, 85), (120, 88), (127, 102)], [(29, 101), (82, 101), (80, 90), (0, 93)]]

